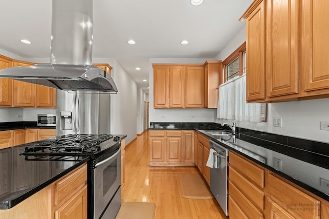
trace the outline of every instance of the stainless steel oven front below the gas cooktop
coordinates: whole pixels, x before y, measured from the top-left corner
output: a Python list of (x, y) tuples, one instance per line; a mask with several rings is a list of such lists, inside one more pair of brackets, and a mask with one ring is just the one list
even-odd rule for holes
[(89, 218), (115, 218), (121, 206), (121, 148), (113, 155), (97, 158), (89, 167), (92, 191), (90, 203), (94, 211)]

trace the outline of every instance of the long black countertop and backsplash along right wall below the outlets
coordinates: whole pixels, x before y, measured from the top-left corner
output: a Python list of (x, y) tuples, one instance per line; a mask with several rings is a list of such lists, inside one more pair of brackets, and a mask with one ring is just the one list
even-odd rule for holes
[[(235, 140), (225, 142), (206, 130), (197, 130), (222, 146), (286, 178), (290, 182), (329, 201), (329, 188), (320, 185), (320, 178), (329, 182), (329, 144), (266, 132), (237, 128)], [(278, 143), (280, 142), (280, 143)], [(281, 160), (281, 168), (273, 163)]]

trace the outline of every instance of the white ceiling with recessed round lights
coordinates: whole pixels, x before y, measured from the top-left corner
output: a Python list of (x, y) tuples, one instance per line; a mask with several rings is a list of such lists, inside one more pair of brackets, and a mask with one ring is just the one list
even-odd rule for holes
[[(21, 57), (50, 57), (51, 0), (1, 2), (0, 48)], [(149, 79), (149, 58), (214, 58), (243, 27), (239, 18), (252, 2), (94, 0), (93, 57), (115, 58), (147, 88), (142, 79)], [(32, 44), (22, 44), (22, 38)], [(127, 44), (129, 39), (136, 44)], [(184, 39), (190, 43), (180, 45)]]

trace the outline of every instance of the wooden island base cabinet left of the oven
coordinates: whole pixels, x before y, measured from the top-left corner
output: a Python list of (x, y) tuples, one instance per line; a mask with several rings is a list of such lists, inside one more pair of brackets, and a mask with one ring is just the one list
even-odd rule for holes
[(84, 164), (13, 208), (0, 210), (0, 218), (87, 219), (87, 210), (87, 164)]

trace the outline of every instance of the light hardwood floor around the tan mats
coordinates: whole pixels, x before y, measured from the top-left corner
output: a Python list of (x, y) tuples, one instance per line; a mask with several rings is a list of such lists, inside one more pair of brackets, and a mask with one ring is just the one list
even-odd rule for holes
[(149, 167), (148, 132), (125, 149), (122, 202), (152, 202), (156, 218), (227, 218), (215, 199), (181, 196), (179, 174), (198, 173), (196, 167)]

